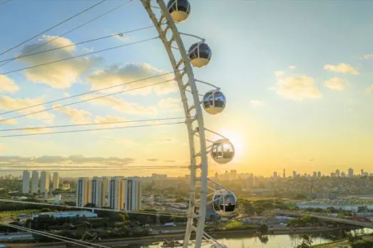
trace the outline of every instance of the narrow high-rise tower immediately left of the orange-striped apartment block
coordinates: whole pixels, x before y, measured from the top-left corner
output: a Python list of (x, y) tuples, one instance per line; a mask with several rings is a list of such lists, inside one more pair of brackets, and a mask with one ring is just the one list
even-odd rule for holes
[(90, 203), (96, 208), (102, 208), (106, 205), (106, 194), (108, 179), (106, 177), (94, 177), (90, 182)]

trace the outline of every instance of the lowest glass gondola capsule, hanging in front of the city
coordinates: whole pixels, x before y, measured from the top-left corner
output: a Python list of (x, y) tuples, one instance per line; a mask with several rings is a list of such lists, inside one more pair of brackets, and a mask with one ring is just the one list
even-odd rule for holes
[(234, 214), (237, 208), (237, 197), (234, 193), (221, 189), (212, 197), (212, 206), (215, 212), (222, 217), (229, 217)]

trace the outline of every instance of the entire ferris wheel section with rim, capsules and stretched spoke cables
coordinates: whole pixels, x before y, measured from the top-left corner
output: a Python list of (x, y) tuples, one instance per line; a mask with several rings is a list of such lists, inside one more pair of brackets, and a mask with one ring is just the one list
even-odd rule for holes
[[(86, 9), (85, 11), (92, 9), (94, 6), (102, 4), (104, 1), (106, 0), (102, 0), (97, 4), (94, 4), (93, 6)], [(106, 13), (103, 13), (100, 16), (92, 18), (90, 21), (87, 21), (81, 24), (80, 26), (72, 28), (71, 30), (63, 33), (60, 36), (70, 33), (72, 30), (76, 30), (77, 28), (80, 28), (86, 25), (87, 23), (90, 23), (91, 21), (94, 21), (97, 18), (104, 16), (107, 13), (114, 11), (115, 9), (118, 9), (120, 6), (124, 6), (125, 4), (128, 4), (131, 1), (133, 0), (129, 0), (124, 4), (122, 3), (121, 5), (115, 7), (114, 9), (107, 11)], [(144, 6), (146, 13), (148, 13), (148, 17), (153, 23), (153, 26), (156, 28), (156, 31), (158, 32), (158, 37), (155, 37), (155, 38), (159, 38), (162, 41), (163, 46), (168, 55), (168, 59), (170, 60), (171, 65), (173, 67), (172, 73), (174, 73), (174, 79), (167, 80), (167, 81), (176, 81), (178, 84), (178, 89), (180, 91), (180, 99), (183, 104), (183, 110), (185, 114), (185, 117), (183, 117), (183, 119), (185, 118), (185, 125), (188, 131), (189, 152), (190, 152), (190, 164), (189, 164), (188, 169), (190, 169), (190, 187), (189, 187), (188, 211), (186, 213), (187, 215), (186, 217), (188, 218), (188, 220), (187, 220), (187, 226), (185, 228), (183, 247), (184, 248), (189, 247), (190, 244), (192, 243), (194, 243), (193, 244), (194, 247), (198, 247), (198, 248), (202, 247), (203, 239), (206, 239), (207, 241), (211, 242), (212, 247), (225, 247), (225, 245), (219, 244), (217, 240), (213, 239), (210, 235), (208, 235), (205, 232), (205, 219), (206, 219), (207, 205), (211, 205), (212, 209), (215, 210), (215, 212), (218, 215), (222, 217), (228, 217), (232, 215), (234, 213), (234, 210), (236, 210), (237, 208), (237, 198), (236, 196), (234, 196), (234, 193), (232, 193), (232, 191), (227, 190), (224, 186), (217, 184), (217, 182), (212, 181), (211, 179), (208, 178), (208, 175), (207, 175), (208, 158), (207, 157), (210, 155), (211, 159), (215, 161), (217, 164), (227, 164), (232, 161), (235, 150), (234, 150), (234, 146), (232, 145), (232, 143), (229, 141), (227, 137), (224, 137), (220, 135), (219, 133), (215, 133), (214, 131), (205, 128), (203, 113), (204, 111), (209, 115), (217, 115), (221, 113), (225, 109), (226, 98), (225, 98), (225, 95), (222, 93), (222, 91), (220, 91), (219, 87), (215, 86), (214, 84), (210, 84), (205, 81), (200, 81), (198, 79), (195, 79), (195, 76), (193, 73), (193, 67), (200, 68), (200, 67), (205, 67), (207, 66), (207, 64), (209, 64), (210, 60), (212, 59), (212, 50), (207, 45), (207, 43), (205, 43), (204, 38), (200, 38), (194, 34), (180, 33), (178, 30), (177, 24), (182, 26), (182, 23), (184, 21), (187, 21), (190, 15), (191, 6), (188, 0), (169, 0), (167, 4), (165, 3), (164, 0), (140, 0), (140, 1), (141, 1), (141, 4)], [(85, 11), (82, 11), (80, 13), (83, 13)], [(78, 13), (77, 15), (79, 15), (80, 13)], [(65, 21), (71, 18), (74, 18), (75, 16), (67, 18)], [(59, 26), (65, 21), (58, 23), (58, 25), (56, 26)], [(51, 28), (54, 28), (56, 26), (53, 26)], [(48, 28), (47, 30), (50, 30), (51, 28)], [(146, 28), (139, 28), (137, 30), (144, 30)], [(133, 32), (133, 31), (134, 30), (129, 31), (128, 33)], [(124, 33), (119, 33), (115, 35), (122, 36), (123, 34)], [(38, 35), (35, 35), (32, 38), (24, 41), (23, 43), (19, 43), (18, 45), (9, 48), (8, 50), (0, 53), (0, 55), (4, 55), (4, 53), (9, 52), (15, 49), (16, 47), (19, 47), (20, 45), (27, 43), (33, 38), (38, 37)], [(92, 42), (95, 40), (101, 40), (104, 38), (110, 38), (110, 37), (114, 37), (115, 35), (107, 35), (102, 38), (86, 40), (84, 42), (80, 42), (77, 44), (88, 43), (88, 42)], [(189, 36), (195, 39), (196, 42), (193, 43), (193, 45), (191, 45), (188, 50), (186, 50), (183, 40), (181, 38), (182, 36)], [(155, 38), (151, 38), (147, 40), (153, 40)], [(31, 57), (33, 55), (40, 55), (40, 54), (44, 54), (45, 52), (51, 52), (54, 50), (58, 50), (60, 48), (66, 48), (66, 47), (72, 46), (72, 45), (65, 45), (63, 47), (52, 48), (50, 50), (38, 51), (38, 48), (40, 48), (43, 45), (48, 45), (48, 43), (52, 43), (53, 40), (55, 39), (58, 39), (58, 36), (56, 36), (52, 40), (48, 40), (46, 43), (43, 43), (42, 45), (33, 47), (33, 49), (28, 50), (27, 52), (21, 55), (18, 55), (17, 57), (9, 58), (6, 60), (0, 60), (0, 62), (3, 63), (3, 64), (0, 64), (0, 67), (13, 60), (17, 60), (17, 59), (21, 59), (25, 57)], [(142, 40), (140, 42), (144, 42), (144, 41), (146, 40)], [(118, 45), (116, 47), (109, 47), (109, 48), (94, 51), (94, 52), (87, 52), (83, 55), (64, 57), (64, 58), (61, 58), (60, 60), (55, 60), (51, 62), (45, 62), (41, 64), (31, 64), (30, 67), (3, 72), (0, 74), (0, 76), (10, 74), (13, 72), (20, 72), (20, 71), (23, 71), (24, 69), (33, 69), (36, 67), (43, 67), (48, 64), (55, 64), (58, 62), (72, 60), (72, 59), (83, 57), (86, 55), (93, 55), (93, 54), (96, 54), (97, 52), (104, 52), (107, 50), (112, 50), (112, 49), (124, 47), (126, 45), (131, 45), (135, 43), (140, 43), (140, 42), (134, 42), (134, 43), (129, 43), (125, 45)], [(32, 51), (34, 52), (30, 53)], [(147, 79), (151, 79), (153, 77), (158, 77), (158, 76), (148, 77)], [(102, 89), (94, 89), (92, 91), (88, 91), (82, 94), (77, 94), (74, 96), (67, 96), (64, 98), (60, 98), (60, 99), (53, 100), (53, 101), (48, 101), (45, 103), (36, 103), (36, 105), (33, 105), (33, 106), (23, 106), (22, 108), (18, 108), (18, 109), (9, 109), (7, 112), (0, 113), (0, 115), (5, 115), (9, 113), (18, 113), (18, 111), (25, 111), (25, 110), (28, 110), (29, 108), (39, 107), (46, 103), (55, 103), (57, 101), (63, 101), (66, 99), (77, 97), (77, 96), (85, 96), (86, 94), (97, 93), (98, 91), (113, 89), (114, 87), (124, 86), (127, 84), (132, 84), (136, 81), (144, 81), (144, 80), (146, 79), (130, 81), (124, 84), (118, 84), (116, 86), (107, 86)], [(163, 81), (163, 83), (167, 81)], [(197, 83), (207, 84), (208, 86), (212, 87), (212, 90), (207, 91), (205, 94), (199, 94), (198, 89), (197, 89)], [(152, 85), (156, 85), (156, 84), (149, 84), (148, 86), (152, 86)], [(139, 86), (134, 89), (142, 89), (144, 87), (145, 86)], [(129, 89), (129, 90), (134, 90), (134, 89)], [(45, 111), (51, 111), (57, 108), (67, 107), (75, 103), (82, 103), (82, 102), (91, 101), (97, 98), (104, 98), (107, 96), (112, 96), (113, 94), (124, 93), (129, 90), (117, 91), (116, 93), (103, 94), (99, 96), (94, 96), (92, 98), (82, 98), (80, 101), (76, 101), (74, 103), (66, 103), (64, 105), (56, 105), (51, 108), (43, 108), (40, 111), (33, 111), (33, 112), (26, 112), (26, 113), (23, 112), (21, 115), (16, 115), (15, 117), (12, 117), (12, 118), (0, 118), (0, 123), (1, 122), (4, 123), (5, 121), (13, 120), (15, 118), (21, 118), (21, 117), (25, 117), (25, 116), (36, 114), (36, 113), (41, 113)], [(202, 99), (200, 99), (201, 96), (202, 96)], [(202, 108), (204, 111), (202, 110)], [(158, 120), (162, 120), (162, 119), (158, 119)], [(136, 121), (140, 121), (140, 120), (136, 120)], [(121, 122), (116, 122), (116, 123), (129, 123), (129, 122), (131, 121), (121, 121)], [(96, 125), (96, 124), (97, 123), (89, 123), (89, 124), (84, 124), (84, 125)], [(105, 124), (115, 124), (115, 123), (105, 123)], [(167, 123), (167, 124), (175, 124), (175, 123)], [(58, 126), (50, 126), (49, 128), (66, 128), (66, 127), (82, 126), (82, 125), (83, 124), (58, 125)], [(152, 125), (158, 125), (158, 124), (152, 124)], [(145, 126), (145, 125), (129, 126), (129, 127), (114, 127), (112, 129), (136, 128), (136, 127), (141, 127), (141, 126)], [(22, 130), (34, 130), (34, 129), (37, 130), (38, 128), (22, 128)], [(62, 132), (29, 133), (29, 134), (22, 134), (22, 135), (4, 135), (0, 137), (18, 137), (18, 136), (42, 135), (42, 134), (49, 135), (53, 133), (75, 133), (75, 132), (82, 132), (82, 131), (96, 131), (96, 130), (108, 130), (108, 129), (110, 128), (95, 128), (95, 129), (90, 129), (90, 130), (72, 130), (72, 131), (62, 131)], [(2, 130), (2, 131), (14, 131), (14, 130), (20, 130), (20, 129), (8, 129), (8, 130)], [(206, 135), (205, 135), (206, 133), (212, 133), (214, 135), (219, 136), (220, 138), (214, 141), (207, 140)], [(4, 202), (7, 200), (1, 200), (1, 201)], [(12, 201), (12, 202), (16, 203), (17, 201)], [(21, 202), (18, 201), (18, 203), (21, 203)], [(31, 202), (28, 202), (28, 204), (31, 204)], [(35, 204), (48, 205), (48, 203), (35, 203)], [(62, 206), (66, 207), (65, 205), (62, 205)], [(87, 209), (96, 210), (98, 208), (87, 208)], [(136, 212), (136, 213), (140, 213), (140, 212)], [(144, 211), (142, 211), (142, 213), (154, 214), (154, 213), (149, 213), (149, 212), (144, 212)], [(0, 224), (7, 225), (1, 222)], [(25, 228), (23, 228), (23, 230), (31, 232), (31, 230), (28, 230)], [(38, 233), (40, 234), (40, 232)], [(191, 240), (193, 233), (195, 233), (195, 240)], [(45, 235), (45, 233), (43, 235)], [(50, 237), (50, 235), (47, 235), (47, 237)], [(59, 236), (59, 238), (62, 238), (62, 237)], [(70, 242), (72, 241), (70, 240)]]

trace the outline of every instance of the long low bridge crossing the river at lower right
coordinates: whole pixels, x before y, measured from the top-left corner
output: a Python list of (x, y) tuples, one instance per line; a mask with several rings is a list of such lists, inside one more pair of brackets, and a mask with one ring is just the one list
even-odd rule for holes
[(356, 226), (359, 226), (359, 227), (373, 228), (373, 222), (350, 220), (350, 219), (340, 218), (340, 217), (335, 217), (335, 216), (330, 216), (330, 215), (323, 215), (323, 214), (320, 214), (320, 213), (279, 210), (279, 211), (276, 211), (276, 214), (286, 215), (286, 216), (296, 216), (296, 217), (301, 217), (303, 215), (310, 215), (314, 218), (318, 218), (319, 220), (326, 220), (326, 221), (330, 221), (330, 222), (337, 222), (337, 223), (348, 224), (348, 225), (356, 225)]

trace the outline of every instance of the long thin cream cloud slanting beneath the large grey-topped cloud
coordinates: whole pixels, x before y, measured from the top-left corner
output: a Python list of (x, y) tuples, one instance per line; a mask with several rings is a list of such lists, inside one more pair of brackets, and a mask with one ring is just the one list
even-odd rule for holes
[[(82, 96), (81, 99), (94, 98), (98, 95)], [(114, 96), (107, 96), (102, 98), (97, 98), (90, 101), (91, 104), (99, 106), (107, 106), (109, 108), (114, 108), (114, 110), (120, 113), (126, 113), (129, 115), (156, 115), (157, 108), (154, 106), (141, 106), (138, 103), (132, 103), (121, 98)]]

